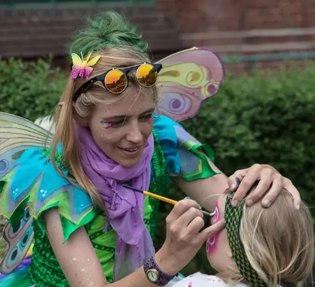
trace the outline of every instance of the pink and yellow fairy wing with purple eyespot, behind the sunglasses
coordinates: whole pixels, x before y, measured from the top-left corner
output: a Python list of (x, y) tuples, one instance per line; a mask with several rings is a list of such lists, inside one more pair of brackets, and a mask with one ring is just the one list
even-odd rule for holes
[(202, 102), (214, 95), (224, 80), (219, 56), (207, 48), (191, 48), (160, 61), (158, 75), (162, 101), (158, 108), (176, 122), (192, 118)]

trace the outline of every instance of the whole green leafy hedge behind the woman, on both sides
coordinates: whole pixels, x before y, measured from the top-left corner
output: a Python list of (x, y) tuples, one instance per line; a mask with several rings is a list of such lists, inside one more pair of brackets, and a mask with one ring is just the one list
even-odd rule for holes
[[(53, 111), (65, 78), (45, 61), (28, 65), (18, 60), (10, 60), (9, 65), (0, 62), (0, 75), (0, 111), (32, 121)], [(227, 175), (255, 162), (272, 164), (291, 178), (303, 199), (314, 206), (314, 82), (315, 66), (267, 75), (228, 75), (220, 92), (183, 125), (214, 148), (216, 164)], [(184, 197), (176, 188), (171, 188), (168, 196)], [(163, 243), (164, 218), (170, 208), (160, 206), (156, 247)], [(204, 249), (183, 273), (195, 271), (211, 272)]]

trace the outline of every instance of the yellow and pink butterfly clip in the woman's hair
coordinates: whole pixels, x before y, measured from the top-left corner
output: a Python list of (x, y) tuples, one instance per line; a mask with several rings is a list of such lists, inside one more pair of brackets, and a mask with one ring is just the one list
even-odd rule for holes
[(91, 52), (89, 52), (88, 56), (86, 59), (83, 59), (83, 55), (81, 53), (81, 58), (79, 55), (72, 53), (71, 58), (72, 58), (72, 76), (71, 79), (77, 79), (79, 78), (88, 78), (93, 72), (93, 68), (91, 66), (94, 66), (97, 61), (101, 58), (101, 56), (95, 56), (93, 59), (90, 60), (91, 57)]

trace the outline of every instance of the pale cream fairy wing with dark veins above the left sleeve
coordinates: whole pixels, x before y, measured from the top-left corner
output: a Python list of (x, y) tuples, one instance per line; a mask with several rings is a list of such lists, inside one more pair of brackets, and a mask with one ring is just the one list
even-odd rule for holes
[(53, 135), (23, 118), (0, 112), (0, 179), (25, 149), (49, 146)]

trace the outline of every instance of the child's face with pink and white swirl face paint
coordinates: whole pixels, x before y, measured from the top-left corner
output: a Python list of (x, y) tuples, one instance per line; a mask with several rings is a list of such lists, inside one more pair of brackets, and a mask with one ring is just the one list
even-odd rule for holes
[[(211, 224), (214, 224), (224, 218), (225, 199), (225, 195), (222, 195), (218, 198), (215, 207), (215, 214), (211, 218)], [(210, 265), (216, 271), (222, 272), (229, 266), (234, 266), (225, 228), (212, 235), (207, 240), (206, 252)]]

